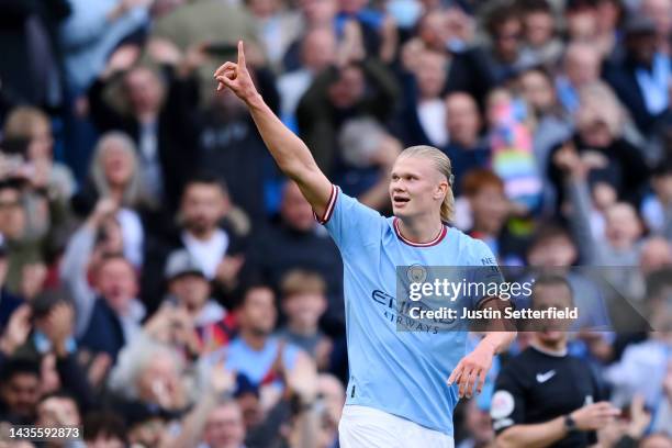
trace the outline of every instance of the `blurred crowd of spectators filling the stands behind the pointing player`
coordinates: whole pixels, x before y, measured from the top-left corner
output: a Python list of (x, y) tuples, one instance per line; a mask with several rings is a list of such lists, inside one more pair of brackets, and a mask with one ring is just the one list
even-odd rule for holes
[[(340, 256), (215, 94), (240, 38), (345, 193), (389, 214), (395, 157), (433, 145), (501, 265), (614, 267), (657, 331), (573, 328), (629, 410), (600, 443), (672, 447), (671, 0), (1, 0), (0, 444), (337, 446)], [(459, 447), (492, 446), (490, 404)]]

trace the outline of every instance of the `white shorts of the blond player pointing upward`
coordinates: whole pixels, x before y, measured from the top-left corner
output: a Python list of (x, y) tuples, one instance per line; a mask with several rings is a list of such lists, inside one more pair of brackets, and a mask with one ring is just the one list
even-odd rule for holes
[(358, 405), (346, 405), (338, 424), (340, 448), (453, 448), (452, 437), (410, 419)]

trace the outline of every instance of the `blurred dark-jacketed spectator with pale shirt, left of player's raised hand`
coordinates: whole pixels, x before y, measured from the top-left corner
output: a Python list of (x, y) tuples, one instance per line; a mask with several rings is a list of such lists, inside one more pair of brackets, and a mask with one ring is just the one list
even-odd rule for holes
[[(156, 46), (155, 42), (149, 52), (158, 59)], [(90, 117), (98, 131), (123, 131), (133, 138), (147, 199), (155, 206), (167, 204), (170, 211), (177, 208), (176, 198), (195, 169), (194, 157), (186, 155), (197, 141), (195, 123), (190, 125), (193, 119), (188, 111), (199, 101), (191, 72), (202, 59), (199, 54), (176, 52), (178, 60), (165, 69), (167, 80), (147, 66), (128, 66), (132, 60), (115, 66), (113, 58), (88, 91)], [(110, 104), (104, 98), (115, 82), (121, 83), (117, 89), (123, 104)]]

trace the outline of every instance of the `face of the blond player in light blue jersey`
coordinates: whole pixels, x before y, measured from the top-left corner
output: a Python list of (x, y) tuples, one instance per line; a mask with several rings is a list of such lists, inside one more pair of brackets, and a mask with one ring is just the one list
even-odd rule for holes
[(399, 217), (415, 217), (438, 211), (448, 189), (445, 176), (424, 157), (396, 159), (390, 179), (392, 211)]

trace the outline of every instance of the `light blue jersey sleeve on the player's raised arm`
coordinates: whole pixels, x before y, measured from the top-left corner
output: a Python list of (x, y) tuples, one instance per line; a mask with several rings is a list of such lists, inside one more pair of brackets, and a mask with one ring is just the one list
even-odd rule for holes
[(332, 186), (332, 195), (323, 216), (315, 215), (326, 227), (341, 254), (379, 244), (384, 217), (355, 198)]

